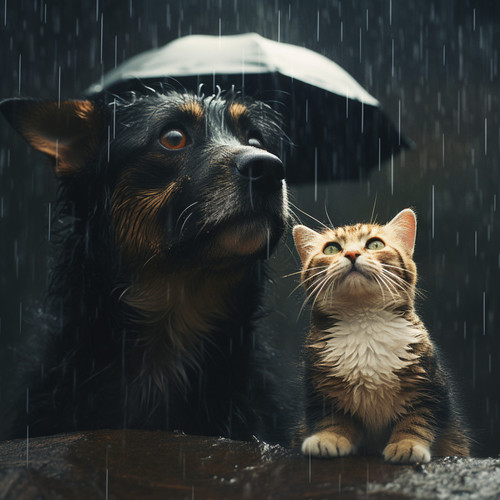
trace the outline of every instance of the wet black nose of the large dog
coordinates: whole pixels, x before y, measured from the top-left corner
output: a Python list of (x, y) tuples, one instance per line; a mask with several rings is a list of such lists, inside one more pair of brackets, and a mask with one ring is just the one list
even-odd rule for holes
[(281, 187), (281, 181), (285, 178), (283, 163), (267, 151), (253, 148), (237, 155), (234, 161), (238, 174), (250, 180), (256, 188), (275, 190)]

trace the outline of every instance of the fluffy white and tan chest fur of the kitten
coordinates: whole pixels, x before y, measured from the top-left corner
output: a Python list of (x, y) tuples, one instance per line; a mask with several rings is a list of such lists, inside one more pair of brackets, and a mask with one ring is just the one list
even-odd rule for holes
[(325, 332), (321, 364), (347, 389), (337, 397), (344, 411), (375, 428), (404, 411), (396, 372), (418, 358), (410, 346), (421, 337), (420, 330), (388, 311), (356, 311), (338, 319)]

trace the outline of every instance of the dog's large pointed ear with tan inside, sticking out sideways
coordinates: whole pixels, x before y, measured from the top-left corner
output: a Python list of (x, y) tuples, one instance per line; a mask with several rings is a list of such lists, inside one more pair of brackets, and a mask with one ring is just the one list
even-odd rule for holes
[(31, 146), (49, 156), (57, 176), (76, 173), (97, 155), (104, 116), (92, 101), (7, 99), (0, 111)]

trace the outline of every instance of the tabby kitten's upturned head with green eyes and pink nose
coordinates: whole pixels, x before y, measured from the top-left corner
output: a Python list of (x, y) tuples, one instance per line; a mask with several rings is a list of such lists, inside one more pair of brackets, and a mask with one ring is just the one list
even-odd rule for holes
[(302, 284), (315, 307), (413, 306), (417, 220), (406, 209), (385, 225), (356, 224), (313, 231), (295, 226)]

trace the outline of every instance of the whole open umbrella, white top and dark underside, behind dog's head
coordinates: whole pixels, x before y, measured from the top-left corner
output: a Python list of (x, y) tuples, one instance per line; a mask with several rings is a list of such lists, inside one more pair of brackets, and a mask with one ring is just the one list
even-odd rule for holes
[(88, 94), (168, 83), (196, 91), (236, 89), (275, 107), (291, 146), (289, 183), (358, 179), (410, 142), (380, 103), (330, 59), (256, 33), (192, 35), (143, 52), (108, 72)]

